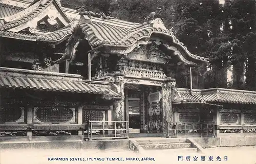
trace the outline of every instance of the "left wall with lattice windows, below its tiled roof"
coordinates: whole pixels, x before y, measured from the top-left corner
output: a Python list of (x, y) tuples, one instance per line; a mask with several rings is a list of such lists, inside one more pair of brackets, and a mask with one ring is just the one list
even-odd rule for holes
[[(74, 136), (83, 138), (84, 122), (112, 121), (113, 105), (86, 105), (82, 102), (66, 101), (34, 101), (26, 97), (14, 99), (12, 90), (4, 91), (1, 96), (0, 107), (0, 140), (8, 137), (27, 137), (33, 140), (36, 136)], [(3, 90), (2, 92), (3, 93)], [(23, 93), (23, 92), (22, 92)], [(9, 98), (7, 98), (9, 95)], [(37, 97), (36, 95), (34, 95)], [(5, 98), (3, 98), (5, 97)], [(29, 101), (26, 101), (29, 100)], [(90, 104), (92, 102), (88, 102)], [(102, 123), (93, 123), (93, 125)], [(97, 133), (97, 132), (95, 132)], [(4, 138), (3, 138), (4, 137)]]

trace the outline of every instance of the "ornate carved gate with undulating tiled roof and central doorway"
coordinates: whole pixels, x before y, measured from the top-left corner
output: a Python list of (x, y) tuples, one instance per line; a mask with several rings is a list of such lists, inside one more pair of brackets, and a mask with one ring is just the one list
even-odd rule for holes
[(207, 62), (190, 54), (160, 18), (140, 25), (83, 14), (66, 55), (70, 62), (88, 59), (89, 79), (114, 84), (122, 99), (114, 103), (112, 120), (128, 121), (130, 136), (163, 135), (173, 121), (172, 76), (178, 67)]

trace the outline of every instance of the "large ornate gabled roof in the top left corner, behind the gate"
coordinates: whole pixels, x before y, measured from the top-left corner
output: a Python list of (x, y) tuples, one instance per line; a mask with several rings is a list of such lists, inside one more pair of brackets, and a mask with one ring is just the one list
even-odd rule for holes
[[(59, 0), (0, 0), (0, 37), (61, 42), (72, 34), (72, 30), (80, 15), (72, 9), (62, 8)], [(59, 18), (64, 28), (54, 32), (33, 33), (37, 26), (37, 21), (48, 15), (52, 17), (51, 21)], [(116, 24), (125, 26), (135, 26), (138, 24), (123, 20), (114, 19)], [(22, 30), (29, 28), (29, 32)]]

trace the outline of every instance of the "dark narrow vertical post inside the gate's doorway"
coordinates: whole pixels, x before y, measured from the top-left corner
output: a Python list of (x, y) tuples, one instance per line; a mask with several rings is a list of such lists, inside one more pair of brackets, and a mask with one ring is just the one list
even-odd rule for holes
[(140, 133), (145, 132), (145, 93), (144, 87), (140, 91)]

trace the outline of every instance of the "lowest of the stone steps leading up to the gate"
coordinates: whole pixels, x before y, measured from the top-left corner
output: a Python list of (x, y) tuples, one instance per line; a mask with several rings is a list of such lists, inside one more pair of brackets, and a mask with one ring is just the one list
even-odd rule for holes
[(198, 154), (197, 148), (183, 148), (183, 149), (163, 149), (163, 150), (154, 150), (154, 149), (147, 149), (145, 153), (150, 154), (160, 154), (161, 151), (164, 151), (163, 154), (170, 154), (170, 155), (191, 155), (191, 154)]

